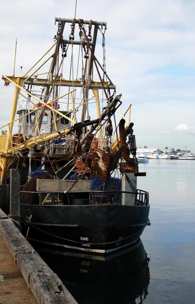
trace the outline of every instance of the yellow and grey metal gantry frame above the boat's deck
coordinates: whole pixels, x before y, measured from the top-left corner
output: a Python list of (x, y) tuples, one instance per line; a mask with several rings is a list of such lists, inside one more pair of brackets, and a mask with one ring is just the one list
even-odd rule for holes
[[(90, 49), (90, 56), (89, 56), (89, 65), (88, 65), (88, 74), (89, 74), (89, 78), (90, 78), (90, 83), (88, 84), (88, 88), (92, 89), (93, 94), (96, 98), (96, 110), (97, 110), (97, 118), (101, 117), (101, 111), (100, 111), (100, 105), (99, 105), (99, 93), (98, 93), (98, 89), (104, 89), (105, 91), (105, 87), (107, 89), (113, 89), (114, 91), (116, 91), (116, 87), (114, 86), (114, 84), (111, 82), (110, 78), (108, 77), (106, 71), (104, 71), (104, 69), (102, 68), (101, 64), (99, 63), (99, 61), (97, 60), (97, 58), (94, 55), (95, 52), (95, 47), (96, 47), (96, 40), (97, 40), (97, 33), (98, 33), (98, 26), (101, 27), (101, 29), (103, 29), (103, 27), (105, 27), (105, 29), (107, 28), (107, 23), (106, 22), (102, 22), (102, 21), (92, 21), (92, 20), (81, 20), (81, 19), (66, 19), (66, 18), (55, 18), (55, 24), (56, 22), (58, 22), (58, 29), (59, 29), (59, 33), (57, 36), (57, 41), (52, 45), (52, 47), (50, 47), (48, 49), (48, 51), (45, 52), (45, 54), (43, 56), (41, 56), (41, 58), (27, 71), (27, 73), (25, 73), (22, 77), (15, 77), (15, 76), (6, 76), (3, 75), (3, 77), (6, 79), (6, 81), (8, 83), (13, 83), (15, 85), (15, 92), (14, 92), (14, 97), (13, 97), (13, 103), (12, 103), (12, 109), (11, 109), (11, 116), (10, 116), (10, 122), (6, 125), (8, 125), (8, 132), (7, 132), (7, 141), (6, 141), (6, 146), (5, 146), (5, 152), (1, 153), (2, 156), (10, 156), (12, 152), (16, 151), (16, 150), (20, 150), (20, 149), (24, 149), (24, 148), (31, 148), (33, 145), (38, 144), (37, 139), (36, 140), (29, 140), (29, 144), (27, 143), (27, 141), (25, 141), (25, 144), (17, 144), (15, 147), (13, 147), (12, 145), (12, 138), (11, 138), (11, 134), (12, 134), (12, 130), (13, 130), (13, 123), (17, 120), (20, 119), (20, 121), (22, 121), (21, 118), (31, 114), (31, 113), (36, 113), (37, 110), (41, 110), (41, 113), (39, 115), (39, 118), (37, 118), (37, 115), (35, 114), (35, 119), (36, 119), (36, 127), (35, 127), (35, 135), (34, 138), (39, 136), (40, 137), (40, 127), (42, 124), (42, 119), (43, 119), (43, 114), (44, 114), (44, 110), (45, 107), (47, 106), (50, 110), (52, 110), (53, 114), (59, 114), (60, 117), (64, 117), (66, 119), (68, 119), (71, 123), (76, 123), (77, 119), (76, 119), (76, 114), (75, 114), (75, 106), (74, 106), (74, 98), (72, 93), (75, 91), (74, 90), (69, 90), (68, 93), (57, 97), (57, 98), (52, 98), (52, 101), (49, 101), (48, 105), (48, 96), (49, 96), (49, 92), (50, 89), (52, 87), (83, 87), (83, 84), (81, 83), (81, 81), (79, 80), (64, 80), (61, 78), (57, 78), (56, 79), (56, 75), (55, 75), (55, 82), (53, 81), (54, 79), (54, 71), (55, 71), (55, 67), (57, 64), (57, 58), (59, 58), (59, 48), (60, 48), (60, 44), (61, 44), (61, 40), (62, 35), (63, 35), (63, 31), (64, 31), (64, 27), (66, 23), (70, 23), (70, 24), (83, 24), (83, 25), (93, 25), (94, 29), (93, 29), (93, 38), (92, 38), (92, 42), (88, 41), (84, 41), (85, 45), (88, 45), (89, 49)], [(84, 31), (84, 27), (83, 27), (83, 31)], [(84, 34), (86, 36), (86, 33), (84, 31)], [(68, 40), (64, 39), (64, 42), (67, 43)], [(80, 41), (71, 41), (73, 45), (80, 45)], [(69, 42), (70, 43), (70, 42)], [(83, 42), (82, 42), (83, 43)], [(55, 47), (55, 51), (53, 52), (53, 54), (44, 61), (43, 64), (39, 65), (38, 68), (35, 68), (34, 72), (31, 73), (29, 76), (27, 76), (27, 74), (32, 71), (32, 69), (34, 67), (36, 67), (38, 65), (38, 63), (48, 54), (48, 52)], [(48, 61), (52, 58), (52, 63), (51, 63), (51, 67), (50, 70), (48, 72), (48, 79), (41, 79), (38, 78), (36, 79), (36, 81), (34, 81), (34, 76), (36, 75), (43, 75), (46, 73), (40, 73), (40, 74), (36, 74), (37, 71)], [(104, 74), (106, 75), (107, 79), (109, 80), (110, 83), (108, 82), (102, 82), (102, 79), (100, 78), (100, 81), (95, 82), (91, 80), (91, 74), (92, 74), (92, 70), (93, 70), (93, 63), (95, 63), (96, 65), (99, 65), (99, 67), (102, 69), (102, 71), (104, 72)], [(97, 65), (96, 65), (97, 67)], [(97, 67), (97, 71), (98, 71), (98, 67)], [(58, 70), (59, 72), (59, 70)], [(98, 72), (99, 74), (99, 72)], [(32, 78), (33, 77), (33, 78)], [(46, 87), (46, 90), (44, 92), (44, 96), (43, 96), (43, 100), (39, 99), (38, 97), (34, 96), (33, 94), (31, 94), (28, 90), (25, 89), (25, 85), (30, 85), (31, 87), (34, 86), (44, 86)], [(22, 87), (24, 86), (24, 87)], [(20, 93), (20, 90), (22, 90), (23, 92), (25, 92), (28, 96), (33, 97), (35, 100), (37, 100), (41, 106), (37, 107), (35, 110), (30, 111), (29, 113), (23, 115), (22, 117), (15, 119), (15, 115), (16, 115), (16, 107), (17, 107), (17, 101), (18, 101), (18, 96)], [(54, 101), (58, 101), (60, 98), (62, 98), (63, 96), (66, 96), (70, 94), (71, 97), (71, 102), (72, 102), (72, 106), (73, 106), (73, 110), (71, 110), (70, 112), (74, 113), (74, 120), (69, 118), (68, 116), (62, 114), (61, 112), (57, 111), (54, 107), (53, 107), (53, 102)], [(32, 102), (32, 101), (31, 101)], [(33, 103), (33, 102), (32, 102)], [(79, 106), (81, 106), (82, 104), (80, 104)], [(78, 108), (78, 107), (77, 107)], [(83, 107), (84, 108), (84, 107)], [(69, 112), (69, 113), (70, 113)], [(55, 115), (54, 115), (55, 116)], [(84, 116), (83, 116), (84, 117)], [(55, 119), (54, 119), (55, 120)], [(1, 128), (5, 127), (6, 125), (2, 126)], [(56, 127), (56, 123), (54, 121), (54, 125), (55, 125), (55, 131), (57, 132), (57, 127)], [(23, 123), (21, 123), (21, 128), (22, 128), (22, 132), (24, 134), (24, 126)], [(56, 133), (54, 132), (54, 133)], [(24, 134), (25, 135), (25, 134)], [(57, 134), (56, 134), (57, 135)], [(47, 136), (46, 136), (47, 137)], [(41, 141), (43, 142), (44, 140), (48, 140), (48, 137), (42, 137)], [(99, 134), (98, 134), (99, 139), (102, 138), (102, 129), (100, 128), (99, 130)], [(82, 139), (82, 142), (85, 141), (86, 135), (84, 136), (84, 138)], [(11, 145), (11, 148), (10, 148)], [(5, 174), (5, 169), (7, 167), (7, 163), (8, 163), (8, 158), (4, 157), (3, 159), (3, 168), (2, 168), (2, 178), (4, 178), (4, 174)]]

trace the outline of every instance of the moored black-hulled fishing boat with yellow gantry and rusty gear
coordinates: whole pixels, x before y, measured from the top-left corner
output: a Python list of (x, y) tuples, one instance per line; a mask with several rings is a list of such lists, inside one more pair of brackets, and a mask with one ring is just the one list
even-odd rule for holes
[[(107, 74), (107, 23), (55, 24), (52, 46), (31, 69), (3, 75), (15, 92), (10, 122), (1, 127), (1, 208), (29, 241), (106, 254), (136, 243), (150, 225), (148, 192), (137, 189), (146, 173), (138, 171), (130, 107), (129, 121), (117, 114), (122, 95)], [(9, 210), (17, 176), (19, 215)]]

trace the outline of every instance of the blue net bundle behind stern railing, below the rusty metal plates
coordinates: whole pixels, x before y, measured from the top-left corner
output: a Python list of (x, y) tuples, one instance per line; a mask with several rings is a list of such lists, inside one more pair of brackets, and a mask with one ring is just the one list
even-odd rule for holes
[[(104, 185), (104, 181), (99, 177), (95, 177), (91, 183), (91, 190), (102, 191), (103, 185)], [(106, 181), (104, 191), (121, 190), (120, 187), (121, 187), (120, 178), (110, 177), (109, 181)], [(100, 201), (102, 199), (102, 192), (95, 193), (94, 198), (95, 198), (94, 199), (95, 201), (100, 203)], [(110, 203), (111, 202), (120, 203), (120, 193), (118, 193), (118, 192), (103, 193), (103, 202), (107, 203), (108, 201), (110, 201)]]

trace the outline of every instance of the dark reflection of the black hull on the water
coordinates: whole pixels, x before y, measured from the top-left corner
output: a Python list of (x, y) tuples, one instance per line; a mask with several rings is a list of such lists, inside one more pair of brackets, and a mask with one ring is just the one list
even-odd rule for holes
[(107, 256), (36, 250), (79, 304), (142, 303), (147, 296), (149, 258), (140, 239), (134, 246)]

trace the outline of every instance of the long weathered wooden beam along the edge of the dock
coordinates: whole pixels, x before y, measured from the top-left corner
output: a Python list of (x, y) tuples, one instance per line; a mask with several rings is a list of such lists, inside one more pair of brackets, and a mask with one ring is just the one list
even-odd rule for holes
[(74, 297), (0, 209), (0, 235), (39, 304), (76, 304)]

